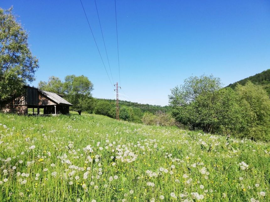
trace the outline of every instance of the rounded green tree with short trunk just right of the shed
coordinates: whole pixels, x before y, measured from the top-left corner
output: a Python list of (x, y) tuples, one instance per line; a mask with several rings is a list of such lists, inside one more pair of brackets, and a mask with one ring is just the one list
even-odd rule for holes
[(91, 106), (93, 84), (86, 76), (67, 75), (63, 89), (67, 100), (73, 104), (71, 109), (77, 111), (79, 115), (82, 111), (89, 111), (91, 107), (93, 108)]

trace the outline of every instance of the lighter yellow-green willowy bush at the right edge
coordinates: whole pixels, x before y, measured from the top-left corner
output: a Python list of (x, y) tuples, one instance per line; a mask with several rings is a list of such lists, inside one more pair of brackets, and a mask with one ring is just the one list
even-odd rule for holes
[(251, 119), (249, 130), (242, 136), (254, 140), (270, 140), (270, 100), (262, 86), (247, 81), (246, 85), (237, 85), (236, 93), (240, 100), (248, 104)]

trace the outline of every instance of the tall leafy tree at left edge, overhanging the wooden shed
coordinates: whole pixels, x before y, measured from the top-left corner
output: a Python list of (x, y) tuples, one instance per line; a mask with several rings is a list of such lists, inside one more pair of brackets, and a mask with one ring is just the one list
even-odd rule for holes
[(23, 91), (35, 80), (38, 59), (28, 45), (28, 34), (12, 13), (0, 8), (0, 100)]

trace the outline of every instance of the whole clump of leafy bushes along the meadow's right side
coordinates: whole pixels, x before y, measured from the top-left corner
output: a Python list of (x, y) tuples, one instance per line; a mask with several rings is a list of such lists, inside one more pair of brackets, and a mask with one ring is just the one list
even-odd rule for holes
[(172, 115), (190, 129), (270, 140), (270, 101), (260, 86), (247, 82), (236, 91), (221, 89), (213, 76), (190, 77), (171, 90)]

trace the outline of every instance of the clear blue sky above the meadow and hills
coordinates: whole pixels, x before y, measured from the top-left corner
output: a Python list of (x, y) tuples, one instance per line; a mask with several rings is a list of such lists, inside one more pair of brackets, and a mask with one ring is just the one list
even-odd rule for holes
[[(94, 0), (82, 0), (106, 61)], [(113, 0), (96, 0), (114, 81), (119, 81)], [(40, 80), (85, 75), (93, 96), (115, 98), (79, 0), (1, 1), (14, 6), (39, 58)], [(190, 75), (213, 74), (224, 85), (270, 68), (270, 1), (116, 0), (119, 98), (168, 104), (170, 89)], [(105, 63), (108, 68), (108, 64)]]

